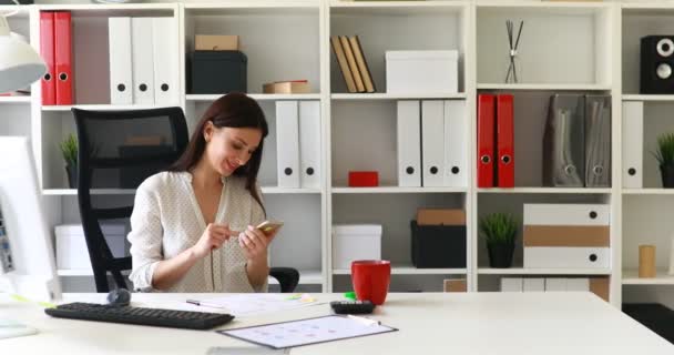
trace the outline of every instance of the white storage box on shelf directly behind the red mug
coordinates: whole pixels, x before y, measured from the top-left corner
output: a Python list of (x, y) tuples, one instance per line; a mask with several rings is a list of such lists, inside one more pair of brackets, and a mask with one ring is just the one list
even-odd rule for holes
[(380, 224), (333, 226), (333, 267), (351, 270), (355, 260), (381, 258)]

